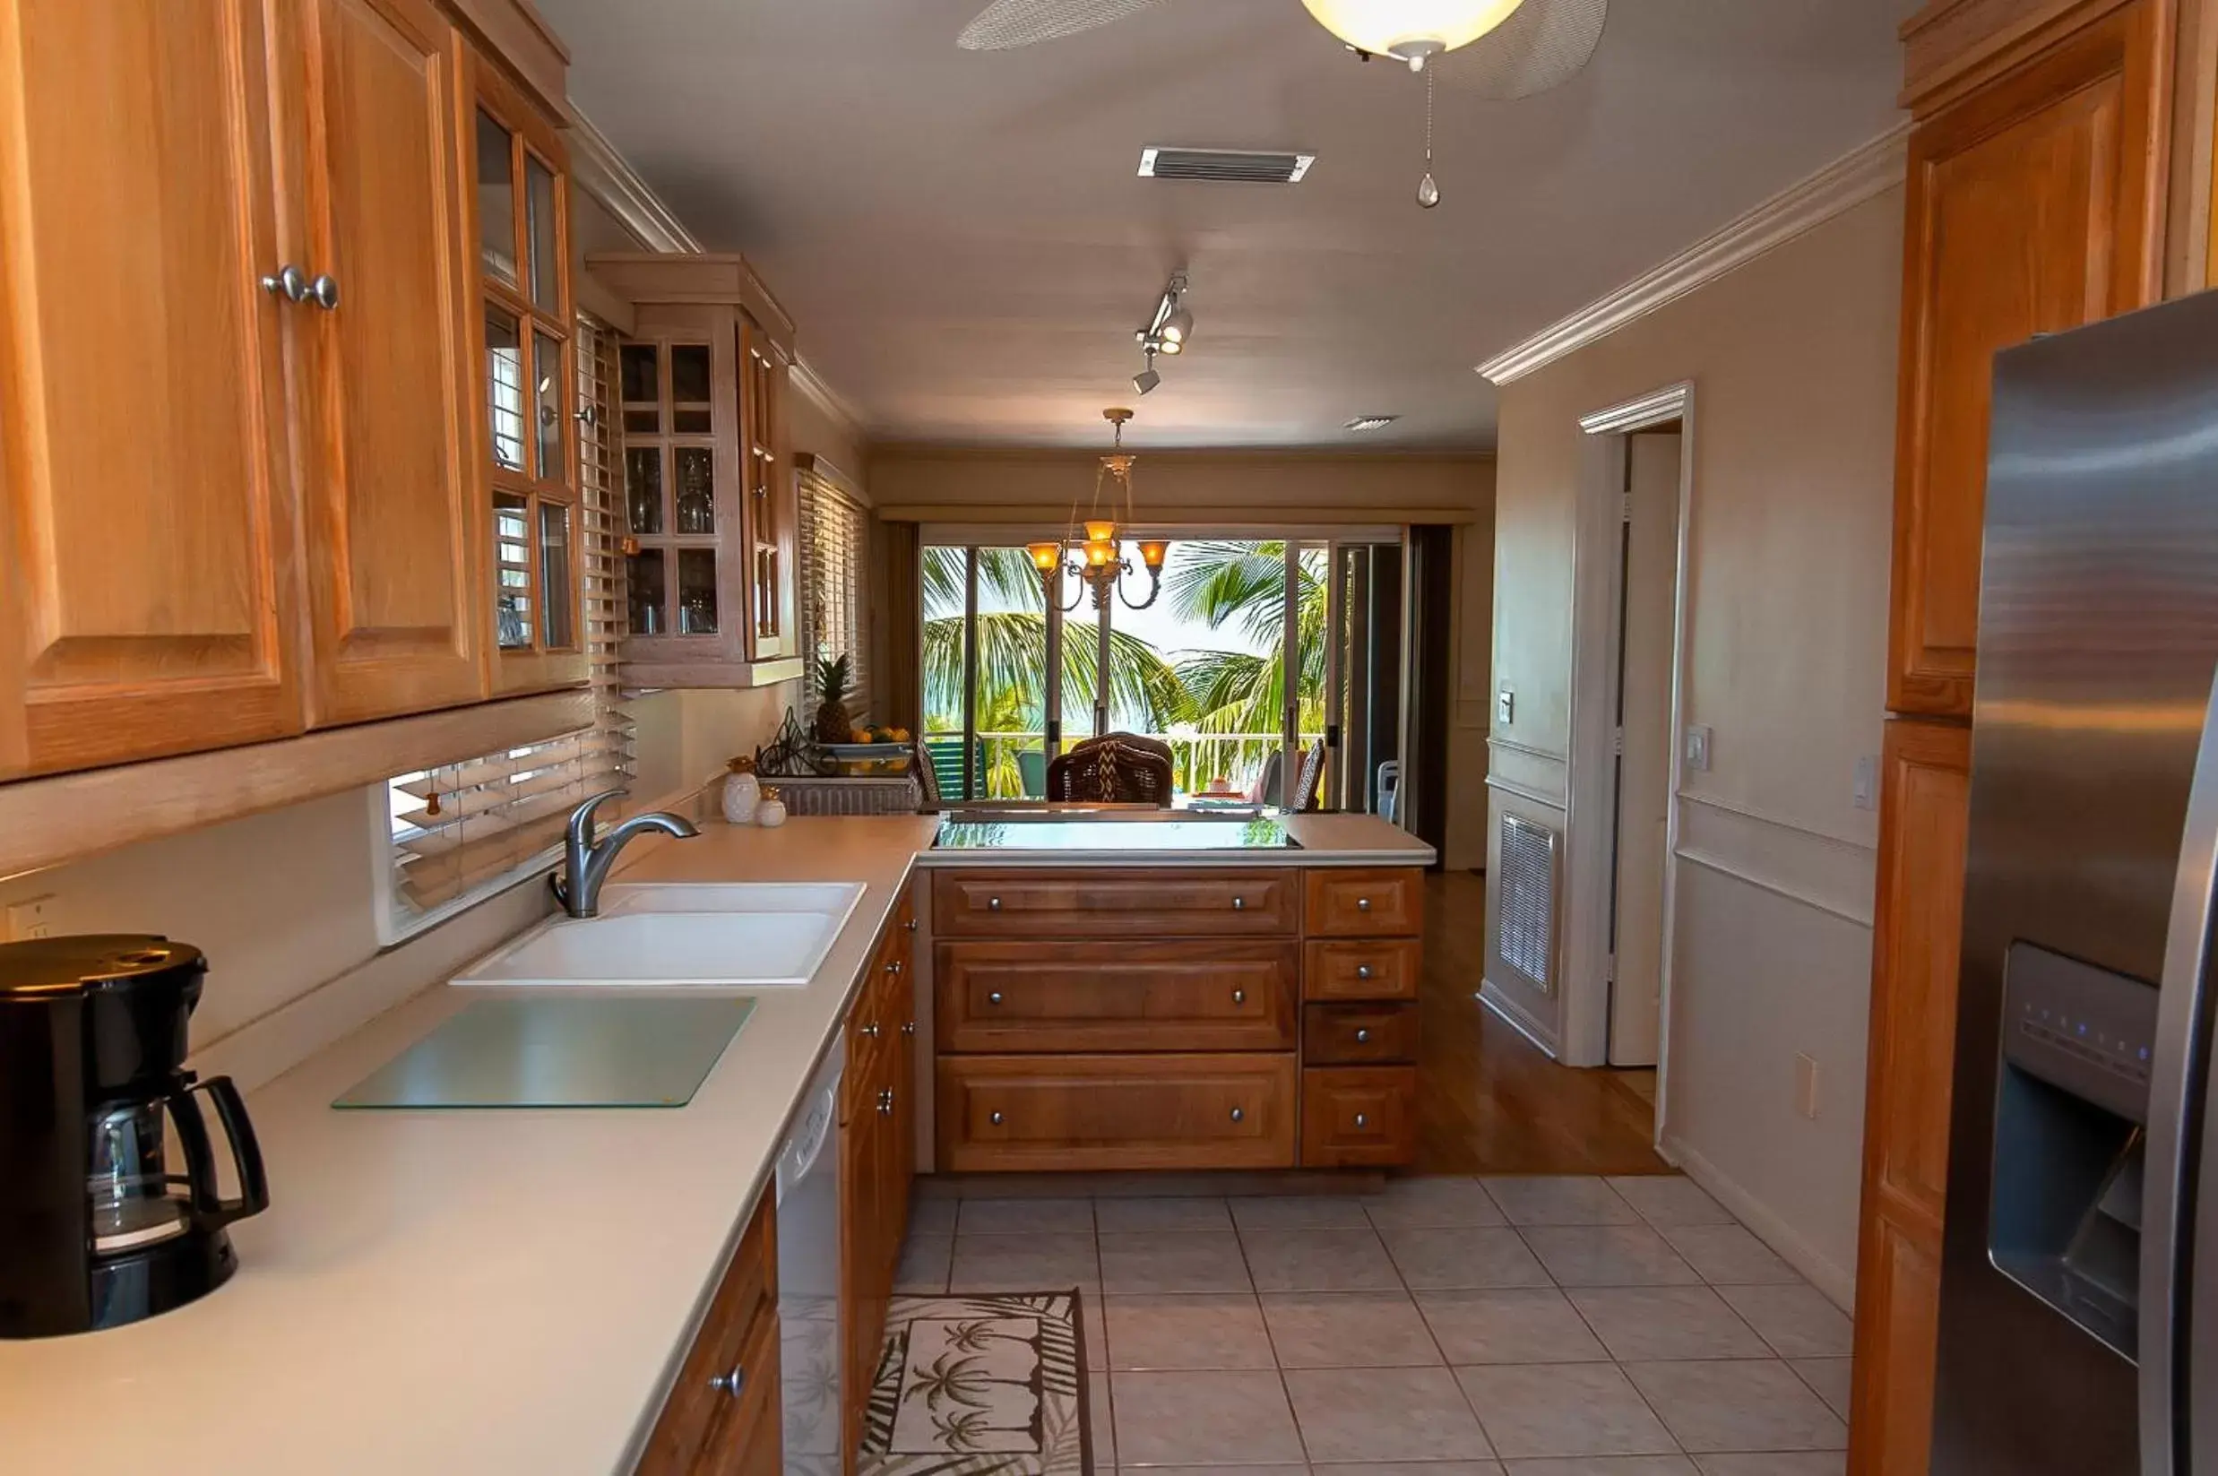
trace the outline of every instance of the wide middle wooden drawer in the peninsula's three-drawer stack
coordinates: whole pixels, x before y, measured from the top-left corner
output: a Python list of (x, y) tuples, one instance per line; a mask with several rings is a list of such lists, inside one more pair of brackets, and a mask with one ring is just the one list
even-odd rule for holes
[(945, 1052), (1293, 1050), (1289, 941), (940, 943)]

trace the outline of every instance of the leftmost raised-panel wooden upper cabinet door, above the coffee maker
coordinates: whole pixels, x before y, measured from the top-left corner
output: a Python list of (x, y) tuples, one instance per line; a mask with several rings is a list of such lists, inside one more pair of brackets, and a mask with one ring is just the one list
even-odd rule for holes
[(302, 726), (264, 55), (260, 0), (0, 7), (0, 777)]

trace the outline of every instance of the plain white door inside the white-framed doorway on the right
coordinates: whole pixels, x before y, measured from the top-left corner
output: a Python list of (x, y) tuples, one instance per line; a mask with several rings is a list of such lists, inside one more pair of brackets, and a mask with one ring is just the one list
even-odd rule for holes
[(1626, 442), (1626, 599), (1619, 650), (1617, 937), (1610, 1065), (1655, 1065), (1664, 1001), (1664, 850), (1670, 826), (1672, 619), (1679, 584), (1679, 435)]

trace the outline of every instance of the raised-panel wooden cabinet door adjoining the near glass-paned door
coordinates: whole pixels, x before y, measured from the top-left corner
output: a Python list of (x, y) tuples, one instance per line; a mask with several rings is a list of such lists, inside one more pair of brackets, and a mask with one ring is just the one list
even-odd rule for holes
[(313, 721), (486, 695), (464, 333), (461, 36), (430, 0), (299, 11)]

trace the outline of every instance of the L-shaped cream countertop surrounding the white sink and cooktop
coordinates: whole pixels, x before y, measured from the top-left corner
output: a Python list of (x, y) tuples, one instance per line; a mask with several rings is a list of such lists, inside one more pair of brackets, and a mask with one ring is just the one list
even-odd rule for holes
[[(1375, 819), (1289, 823), (1302, 850), (1184, 863), (1431, 859)], [(129, 1327), (0, 1343), (0, 1472), (630, 1472), (912, 866), (945, 863), (934, 828), (719, 823), (634, 846), (623, 881), (865, 886), (810, 985), (756, 994), (685, 1108), (335, 1112), (468, 1001), (448, 988), (248, 1094), (271, 1210), (233, 1227), (237, 1276)], [(1111, 859), (1136, 861), (1060, 857)]]

